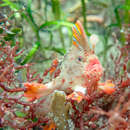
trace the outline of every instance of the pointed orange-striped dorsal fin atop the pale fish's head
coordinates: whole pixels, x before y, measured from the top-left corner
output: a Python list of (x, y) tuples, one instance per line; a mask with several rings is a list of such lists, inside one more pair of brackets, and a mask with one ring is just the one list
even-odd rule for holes
[(85, 31), (79, 20), (75, 23), (74, 27), (72, 28), (72, 33), (73, 33), (73, 41), (72, 41), (73, 45), (78, 48), (83, 48), (87, 51), (90, 51)]

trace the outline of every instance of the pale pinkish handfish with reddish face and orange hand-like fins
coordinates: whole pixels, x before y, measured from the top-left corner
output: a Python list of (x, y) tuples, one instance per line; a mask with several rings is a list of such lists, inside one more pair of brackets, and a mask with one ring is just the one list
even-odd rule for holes
[[(29, 100), (51, 94), (54, 90), (69, 92), (69, 98), (80, 102), (81, 95), (87, 94), (87, 88), (98, 84), (103, 74), (103, 67), (89, 47), (87, 37), (80, 21), (72, 28), (73, 41), (69, 52), (64, 56), (59, 75), (47, 84), (24, 83), (27, 91), (24, 96)], [(57, 62), (56, 62), (57, 64)], [(55, 68), (52, 69), (54, 72)], [(51, 72), (51, 73), (52, 73)], [(106, 84), (104, 84), (106, 86)], [(103, 86), (103, 85), (102, 85)], [(103, 90), (103, 89), (102, 89)]]

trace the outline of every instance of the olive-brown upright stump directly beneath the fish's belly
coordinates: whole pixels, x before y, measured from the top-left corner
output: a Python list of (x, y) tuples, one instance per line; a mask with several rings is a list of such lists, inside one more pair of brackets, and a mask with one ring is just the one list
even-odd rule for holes
[(52, 96), (51, 118), (56, 124), (58, 130), (73, 130), (73, 122), (70, 119), (69, 111), (72, 109), (71, 104), (66, 101), (63, 91), (55, 91)]

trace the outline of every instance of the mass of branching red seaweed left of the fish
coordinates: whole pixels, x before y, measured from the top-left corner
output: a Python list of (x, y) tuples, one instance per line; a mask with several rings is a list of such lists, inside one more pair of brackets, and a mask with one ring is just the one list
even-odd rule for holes
[(31, 64), (21, 66), (15, 62), (15, 57), (23, 52), (17, 53), (18, 45), (16, 42), (15, 46), (11, 46), (11, 42), (6, 41), (0, 44), (0, 127), (10, 126), (24, 130), (46, 123), (48, 119), (37, 119), (34, 110), (39, 104), (25, 102), (23, 98), (26, 88), (19, 77), (21, 70), (26, 70), (27, 82), (38, 82), (42, 78), (34, 76), (34, 72), (30, 73)]

